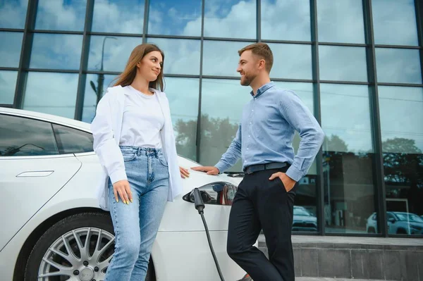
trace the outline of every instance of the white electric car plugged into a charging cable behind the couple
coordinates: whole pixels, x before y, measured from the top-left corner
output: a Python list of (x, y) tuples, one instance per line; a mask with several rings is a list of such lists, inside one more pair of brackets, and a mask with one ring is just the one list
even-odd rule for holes
[[(199, 164), (179, 157), (179, 165)], [(97, 202), (100, 170), (89, 124), (0, 108), (0, 280), (104, 280), (114, 231)], [(219, 280), (202, 218), (189, 202), (195, 187), (206, 199), (204, 216), (223, 276), (243, 277), (226, 254), (240, 180), (190, 170), (183, 194), (166, 205), (146, 280)]]

